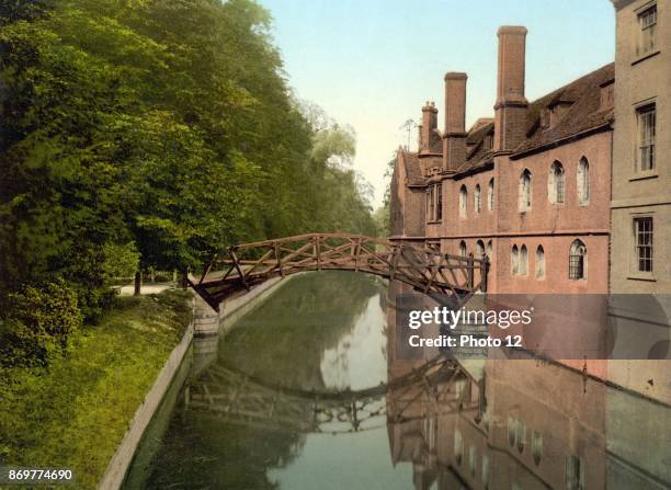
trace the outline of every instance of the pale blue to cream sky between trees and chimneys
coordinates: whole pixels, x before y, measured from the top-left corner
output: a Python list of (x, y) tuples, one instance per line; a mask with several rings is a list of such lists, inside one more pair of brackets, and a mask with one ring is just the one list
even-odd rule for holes
[[(524, 25), (533, 101), (615, 56), (610, 0), (259, 0), (296, 95), (356, 133), (354, 167), (382, 204), (387, 162), (408, 145), (401, 125), (435, 101), (443, 126), (447, 71), (468, 73), (466, 126), (491, 117), (497, 30)], [(410, 149), (417, 147), (417, 129)]]

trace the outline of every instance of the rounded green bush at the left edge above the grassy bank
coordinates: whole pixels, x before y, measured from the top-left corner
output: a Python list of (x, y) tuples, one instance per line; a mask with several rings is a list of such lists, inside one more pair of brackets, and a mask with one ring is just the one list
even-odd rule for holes
[(46, 365), (82, 324), (76, 294), (64, 282), (10, 294), (0, 323), (0, 365)]

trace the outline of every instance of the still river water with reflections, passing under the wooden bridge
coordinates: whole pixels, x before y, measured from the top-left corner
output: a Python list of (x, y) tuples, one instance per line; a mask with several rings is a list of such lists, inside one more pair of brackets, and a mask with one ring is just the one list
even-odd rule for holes
[(668, 406), (536, 361), (396, 358), (401, 292), (346, 272), (277, 289), (195, 353), (127, 488), (670, 488)]

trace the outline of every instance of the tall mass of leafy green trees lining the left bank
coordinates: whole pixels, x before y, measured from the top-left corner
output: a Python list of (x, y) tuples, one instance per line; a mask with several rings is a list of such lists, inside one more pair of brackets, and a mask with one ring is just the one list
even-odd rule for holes
[(136, 262), (375, 233), (353, 132), (291, 96), (254, 1), (11, 1), (0, 18), (0, 296), (64, 278), (94, 319)]

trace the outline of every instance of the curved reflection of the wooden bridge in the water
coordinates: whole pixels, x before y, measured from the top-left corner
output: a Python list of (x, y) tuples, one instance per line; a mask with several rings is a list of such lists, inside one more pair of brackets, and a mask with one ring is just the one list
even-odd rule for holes
[(360, 432), (384, 426), (387, 421), (424, 418), (412, 410), (420, 398), (434, 400), (436, 414), (464, 409), (465, 400), (450, 397), (447, 401), (443, 395), (467, 376), (455, 361), (436, 356), (388, 384), (356, 391), (310, 391), (269, 385), (214, 364), (189, 387), (187, 399), (191, 409), (227, 422), (299, 432)]

